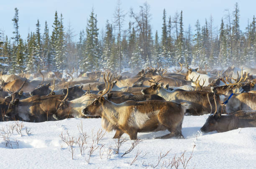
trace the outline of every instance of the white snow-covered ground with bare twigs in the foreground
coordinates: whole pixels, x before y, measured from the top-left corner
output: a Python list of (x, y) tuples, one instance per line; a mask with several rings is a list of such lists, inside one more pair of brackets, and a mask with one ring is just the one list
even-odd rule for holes
[[(17, 122), (0, 122), (0, 142), (2, 143), (0, 144), (0, 169), (141, 169), (152, 168), (152, 166), (166, 168), (173, 157), (176, 157), (176, 160), (179, 159), (184, 151), (184, 161), (187, 161), (194, 145), (194, 152), (187, 163), (187, 169), (255, 169), (256, 128), (202, 134), (200, 127), (205, 123), (207, 116), (184, 117), (182, 134), (185, 139), (154, 139), (154, 137), (167, 134), (168, 131), (138, 133), (138, 138), (143, 141), (123, 157), (121, 156), (134, 142), (129, 139), (127, 134), (123, 134), (122, 138), (128, 139), (128, 141), (120, 146), (119, 154), (115, 154), (117, 139), (112, 139), (115, 132), (105, 134), (98, 144), (92, 145), (92, 139), (97, 142), (97, 132), (102, 129), (101, 119), (65, 119), (42, 123), (23, 122), (22, 137), (15, 129), (13, 129), (13, 134), (9, 134), (13, 149), (5, 147), (2, 137), (6, 134), (3, 134), (3, 131), (7, 132), (9, 129), (9, 133), (12, 133), (11, 126), (20, 126), (21, 122), (18, 122), (18, 125)], [(83, 131), (88, 135), (87, 144), (84, 145), (87, 148), (82, 151), (81, 155), (79, 145), (74, 144), (74, 159), (72, 159), (71, 149), (61, 141), (60, 135), (63, 133), (63, 137), (66, 136), (67, 138), (68, 131), (70, 137), (74, 137), (74, 140), (77, 139), (80, 135), (78, 127), (81, 130), (81, 122)], [(26, 127), (31, 129), (31, 134), (26, 134)], [(18, 140), (18, 149), (15, 140)], [(98, 148), (92, 153), (88, 164), (88, 152), (91, 147), (92, 149)], [(160, 153), (163, 155), (168, 151), (169, 153), (157, 165)], [(137, 153), (139, 153), (137, 160), (133, 162)], [(179, 162), (178, 168), (183, 169), (183, 161)]]

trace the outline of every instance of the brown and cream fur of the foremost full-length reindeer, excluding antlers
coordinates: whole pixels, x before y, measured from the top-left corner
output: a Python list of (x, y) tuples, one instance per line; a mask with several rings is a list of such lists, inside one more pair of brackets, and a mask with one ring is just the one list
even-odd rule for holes
[(100, 97), (87, 106), (83, 113), (87, 116), (100, 115), (102, 127), (108, 132), (116, 129), (114, 138), (127, 133), (131, 139), (137, 139), (138, 132), (151, 132), (168, 129), (162, 139), (174, 136), (182, 137), (182, 121), (189, 104), (177, 104), (166, 101), (127, 101), (115, 104)]

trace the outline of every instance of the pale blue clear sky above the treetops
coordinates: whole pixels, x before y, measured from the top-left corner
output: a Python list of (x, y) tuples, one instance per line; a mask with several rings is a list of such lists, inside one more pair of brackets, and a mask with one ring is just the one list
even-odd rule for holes
[[(121, 9), (127, 13), (124, 22), (124, 28), (128, 28), (129, 10), (132, 7), (134, 12), (138, 12), (139, 6), (143, 5), (145, 0), (120, 0)], [(183, 11), (184, 30), (188, 25), (192, 31), (195, 30), (197, 19), (201, 25), (205, 19), (209, 21), (210, 15), (213, 17), (215, 32), (219, 30), (221, 18), (227, 14), (226, 9), (232, 14), (234, 5), (238, 2), (240, 9), (240, 26), (245, 31), (248, 19), (251, 22), (255, 15), (256, 1), (254, 0), (147, 0), (150, 5), (152, 32), (158, 30), (161, 34), (163, 10), (166, 9), (167, 16), (174, 17), (175, 13)], [(50, 32), (54, 21), (55, 11), (64, 17), (64, 27), (69, 23), (73, 29), (74, 40), (78, 40), (81, 30), (85, 30), (87, 18), (94, 9), (97, 14), (98, 28), (105, 30), (106, 21), (113, 22), (113, 13), (117, 6), (117, 0), (2, 0), (0, 5), (0, 30), (4, 30), (5, 35), (12, 37), (13, 34), (13, 16), (14, 8), (19, 10), (19, 32), (22, 38), (26, 38), (28, 32), (36, 31), (36, 23), (39, 20), (41, 25), (41, 34), (44, 32), (44, 23), (47, 21)]]

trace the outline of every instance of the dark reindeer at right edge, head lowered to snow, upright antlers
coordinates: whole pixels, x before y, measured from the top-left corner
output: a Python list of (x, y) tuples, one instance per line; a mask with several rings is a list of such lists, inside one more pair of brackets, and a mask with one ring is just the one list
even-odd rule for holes
[[(209, 104), (212, 107), (210, 101)], [(212, 114), (211, 109), (209, 117), (206, 119), (205, 124), (201, 127), (200, 130), (204, 133), (215, 130), (217, 130), (217, 132), (227, 132), (243, 127), (256, 127), (256, 110), (241, 110), (230, 115), (221, 115), (221, 113), (217, 113), (216, 110), (214, 114)]]

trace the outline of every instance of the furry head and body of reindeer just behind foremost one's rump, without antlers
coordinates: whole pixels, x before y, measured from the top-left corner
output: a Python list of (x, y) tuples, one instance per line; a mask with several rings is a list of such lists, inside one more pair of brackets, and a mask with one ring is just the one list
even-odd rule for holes
[[(157, 94), (163, 97), (166, 101), (172, 101), (176, 103), (187, 102), (191, 104), (191, 109), (187, 110), (187, 113), (192, 115), (208, 114), (210, 112), (210, 104), (207, 99), (207, 93), (210, 97), (210, 102), (214, 105), (214, 98), (212, 92), (205, 91), (186, 91), (182, 89), (166, 90), (163, 84), (155, 84), (147, 89), (141, 91), (143, 94)], [(225, 97), (221, 97), (216, 94), (217, 109), (220, 109), (220, 103), (223, 102)], [(215, 107), (212, 107), (212, 111), (215, 111)]]

